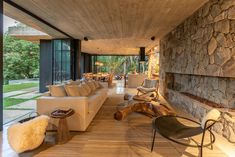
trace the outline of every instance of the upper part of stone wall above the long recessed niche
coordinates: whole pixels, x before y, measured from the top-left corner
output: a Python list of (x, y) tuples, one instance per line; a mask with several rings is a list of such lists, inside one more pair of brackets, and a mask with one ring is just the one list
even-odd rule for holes
[(210, 0), (160, 40), (165, 72), (235, 77), (235, 0)]

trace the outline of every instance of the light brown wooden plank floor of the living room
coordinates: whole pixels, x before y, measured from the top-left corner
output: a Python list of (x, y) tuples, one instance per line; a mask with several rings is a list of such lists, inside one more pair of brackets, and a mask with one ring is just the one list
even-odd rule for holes
[[(116, 94), (118, 91), (119, 94)], [(154, 151), (150, 152), (151, 119), (133, 113), (123, 121), (115, 121), (116, 105), (123, 100), (124, 90), (110, 90), (109, 98), (86, 132), (73, 132), (71, 141), (55, 145), (55, 133), (48, 133), (44, 144), (30, 152), (15, 154), (7, 144), (6, 128), (1, 136), (1, 155), (6, 157), (196, 157), (197, 148), (187, 148), (156, 136)], [(225, 157), (217, 147), (204, 149), (205, 157)]]

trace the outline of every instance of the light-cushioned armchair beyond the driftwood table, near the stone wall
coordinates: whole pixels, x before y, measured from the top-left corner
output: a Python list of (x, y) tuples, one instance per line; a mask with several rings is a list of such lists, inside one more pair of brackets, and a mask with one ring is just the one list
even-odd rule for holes
[(137, 96), (151, 95), (154, 99), (158, 99), (158, 80), (145, 79), (141, 86), (137, 87)]

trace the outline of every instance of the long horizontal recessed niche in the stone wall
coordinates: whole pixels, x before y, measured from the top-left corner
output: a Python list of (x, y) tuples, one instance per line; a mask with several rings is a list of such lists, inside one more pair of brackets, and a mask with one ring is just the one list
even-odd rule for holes
[(235, 108), (235, 79), (201, 75), (171, 74), (173, 90), (210, 100), (226, 108)]

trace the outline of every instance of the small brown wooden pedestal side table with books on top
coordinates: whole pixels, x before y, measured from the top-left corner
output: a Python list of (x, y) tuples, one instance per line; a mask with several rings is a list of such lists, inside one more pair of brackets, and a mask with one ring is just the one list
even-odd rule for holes
[(72, 116), (73, 114), (74, 114), (73, 109), (66, 109), (66, 110), (58, 109), (51, 113), (52, 118), (59, 119), (59, 124), (57, 128), (58, 144), (64, 144), (71, 139), (66, 118)]

